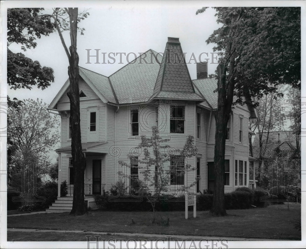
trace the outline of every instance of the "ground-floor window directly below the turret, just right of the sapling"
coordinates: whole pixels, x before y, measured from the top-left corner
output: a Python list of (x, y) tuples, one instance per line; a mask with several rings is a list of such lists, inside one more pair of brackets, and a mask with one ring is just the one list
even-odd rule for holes
[(184, 158), (173, 156), (170, 159), (170, 184), (184, 185)]

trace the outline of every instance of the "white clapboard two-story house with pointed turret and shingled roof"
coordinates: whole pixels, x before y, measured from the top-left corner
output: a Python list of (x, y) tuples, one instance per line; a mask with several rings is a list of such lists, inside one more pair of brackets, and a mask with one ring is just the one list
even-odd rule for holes
[[(170, 52), (169, 52), (170, 51)], [(175, 55), (177, 53), (177, 56)], [(153, 63), (145, 63), (144, 59)], [(138, 175), (137, 161), (128, 154), (136, 153), (140, 136), (151, 136), (151, 127), (159, 128), (171, 148), (182, 149), (192, 135), (198, 154), (188, 159), (196, 170), (189, 182), (200, 181), (194, 191), (214, 187), (215, 118), (217, 87), (215, 78), (207, 78), (207, 64), (197, 64), (197, 79), (191, 80), (178, 38), (168, 38), (162, 57), (148, 50), (109, 77), (80, 67), (80, 114), (82, 149), (86, 157), (85, 194), (101, 194), (118, 181), (118, 161), (135, 167), (128, 174)], [(155, 58), (158, 62), (155, 61)], [(141, 61), (141, 63), (140, 63)], [(69, 80), (63, 85), (49, 109), (61, 115), (61, 148), (58, 183), (64, 180), (72, 188), (71, 124), (69, 119)], [(247, 106), (232, 108), (225, 151), (225, 191), (249, 183), (249, 118), (256, 110)], [(141, 156), (141, 155), (139, 155)], [(173, 156), (170, 163), (177, 161)], [(178, 169), (179, 170), (179, 169)], [(184, 184), (171, 175), (170, 189)], [(139, 176), (141, 177), (141, 176)], [(58, 196), (60, 191), (58, 190)]]

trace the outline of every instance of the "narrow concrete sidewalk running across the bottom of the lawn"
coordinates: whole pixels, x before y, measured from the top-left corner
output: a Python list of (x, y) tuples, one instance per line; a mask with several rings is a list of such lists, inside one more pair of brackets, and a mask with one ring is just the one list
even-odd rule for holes
[(84, 233), (92, 234), (92, 235), (114, 235), (114, 236), (144, 236), (144, 237), (157, 237), (164, 240), (167, 238), (175, 238), (175, 239), (182, 239), (182, 240), (228, 240), (228, 241), (286, 241), (286, 240), (273, 240), (273, 239), (256, 239), (256, 238), (239, 238), (239, 237), (218, 237), (218, 236), (188, 236), (188, 235), (166, 235), (166, 234), (151, 234), (151, 233), (128, 233), (128, 232), (90, 232), (90, 231), (81, 231), (81, 230), (45, 230), (45, 229), (20, 229), (20, 228), (8, 228), (8, 232), (72, 232), (72, 233)]

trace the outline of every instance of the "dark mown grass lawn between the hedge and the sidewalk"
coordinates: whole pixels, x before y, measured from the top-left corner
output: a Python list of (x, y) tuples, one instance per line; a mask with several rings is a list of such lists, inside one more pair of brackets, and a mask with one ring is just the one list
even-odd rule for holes
[[(170, 218), (169, 226), (152, 225), (152, 212), (91, 211), (83, 216), (69, 213), (31, 214), (7, 217), (8, 228), (35, 228), (54, 230), (84, 230), (86, 232), (135, 232), (154, 234), (177, 234), (192, 236), (227, 236), (267, 239), (300, 240), (301, 232), (294, 229), (294, 220), (301, 217), (301, 205), (271, 205), (267, 208), (227, 210), (226, 217), (212, 217), (208, 211), (157, 212), (161, 217)], [(132, 219), (136, 224), (132, 224)]]

